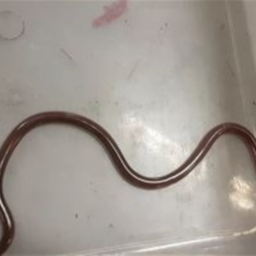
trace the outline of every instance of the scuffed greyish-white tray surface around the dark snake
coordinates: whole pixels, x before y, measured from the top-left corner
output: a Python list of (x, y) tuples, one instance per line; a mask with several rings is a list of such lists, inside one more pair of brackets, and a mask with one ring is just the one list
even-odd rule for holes
[[(254, 67), (244, 54), (255, 31), (241, 4), (129, 1), (122, 17), (93, 28), (106, 4), (1, 1), (26, 26), (17, 40), (0, 40), (1, 141), (33, 113), (80, 113), (113, 135), (138, 172), (155, 176), (179, 166), (214, 125), (253, 130)], [(118, 176), (88, 134), (40, 127), (4, 179), (16, 222), (9, 252), (253, 253), (255, 180), (245, 147), (227, 136), (186, 179), (144, 191)]]

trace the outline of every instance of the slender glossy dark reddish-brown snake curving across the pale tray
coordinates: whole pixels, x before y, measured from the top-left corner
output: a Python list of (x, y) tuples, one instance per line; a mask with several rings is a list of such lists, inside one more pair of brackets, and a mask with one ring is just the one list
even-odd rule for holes
[(239, 124), (224, 123), (217, 125), (205, 134), (204, 138), (198, 143), (192, 154), (179, 166), (179, 168), (161, 177), (146, 177), (131, 168), (111, 135), (99, 124), (93, 122), (89, 118), (73, 113), (56, 111), (29, 116), (13, 129), (0, 148), (0, 221), (3, 227), (3, 234), (0, 240), (1, 254), (8, 250), (15, 234), (15, 223), (12, 212), (6, 203), (3, 193), (3, 178), (6, 166), (20, 140), (22, 140), (29, 131), (40, 125), (51, 123), (71, 124), (90, 132), (90, 134), (95, 136), (106, 148), (106, 152), (108, 152), (109, 157), (113, 161), (113, 164), (120, 175), (127, 182), (139, 188), (163, 188), (184, 178), (198, 163), (200, 163), (212, 147), (214, 141), (220, 138), (221, 135), (227, 133), (238, 136), (245, 143), (252, 156), (253, 164), (256, 164), (255, 136), (253, 136), (252, 132)]

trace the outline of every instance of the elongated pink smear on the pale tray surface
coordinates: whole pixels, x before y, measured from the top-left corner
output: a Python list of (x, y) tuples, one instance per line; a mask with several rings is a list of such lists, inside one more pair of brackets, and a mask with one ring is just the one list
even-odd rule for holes
[(104, 14), (99, 18), (93, 20), (92, 26), (99, 28), (109, 24), (110, 22), (118, 19), (127, 8), (127, 0), (117, 0), (109, 6), (104, 6)]

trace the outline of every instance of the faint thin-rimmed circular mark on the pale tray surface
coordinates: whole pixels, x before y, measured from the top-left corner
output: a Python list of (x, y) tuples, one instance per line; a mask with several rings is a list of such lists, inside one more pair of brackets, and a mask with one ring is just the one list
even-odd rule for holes
[(16, 40), (25, 33), (25, 22), (12, 11), (0, 12), (0, 38), (3, 40)]

